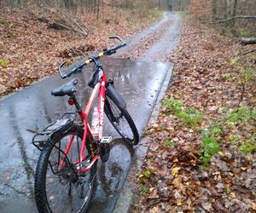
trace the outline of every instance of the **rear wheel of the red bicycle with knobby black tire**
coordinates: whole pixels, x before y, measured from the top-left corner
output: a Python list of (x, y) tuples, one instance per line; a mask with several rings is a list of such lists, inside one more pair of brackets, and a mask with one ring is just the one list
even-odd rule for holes
[[(96, 163), (86, 173), (79, 173), (81, 166), (90, 164), (92, 146), (87, 138), (83, 162), (79, 151), (84, 130), (73, 125), (67, 133), (57, 132), (48, 141), (38, 159), (35, 176), (35, 199), (38, 212), (83, 212), (87, 209), (96, 181)], [(68, 154), (68, 141), (73, 140)]]

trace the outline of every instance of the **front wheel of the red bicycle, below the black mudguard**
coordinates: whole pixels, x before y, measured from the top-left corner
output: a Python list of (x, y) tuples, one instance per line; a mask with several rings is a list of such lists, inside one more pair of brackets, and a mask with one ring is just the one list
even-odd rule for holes
[[(114, 101), (112, 101), (110, 98), (106, 98), (105, 100), (105, 114), (108, 117), (109, 122), (113, 125), (113, 128), (119, 133), (119, 135), (129, 144), (132, 146), (135, 146), (139, 142), (139, 134), (137, 131), (137, 127), (134, 124), (133, 119), (131, 118), (131, 115), (129, 112), (127, 112), (126, 109), (120, 108)], [(116, 117), (119, 118), (116, 118)], [(130, 135), (127, 136), (127, 134), (124, 133), (124, 128), (121, 128), (119, 126), (120, 124), (120, 118), (123, 119), (125, 124), (125, 127), (128, 127), (130, 129)]]

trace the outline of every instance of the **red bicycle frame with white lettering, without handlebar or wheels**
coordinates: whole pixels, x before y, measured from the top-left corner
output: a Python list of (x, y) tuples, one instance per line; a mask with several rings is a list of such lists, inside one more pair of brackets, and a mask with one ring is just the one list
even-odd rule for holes
[[(107, 84), (107, 76), (106, 73), (104, 72), (104, 70), (102, 68), (99, 68), (99, 72), (102, 72), (102, 78), (100, 79), (100, 81), (98, 83), (96, 83), (96, 86), (94, 87), (94, 89), (92, 90), (92, 93), (90, 95), (90, 99), (87, 103), (87, 105), (85, 106), (84, 111), (79, 112), (79, 117), (81, 118), (81, 120), (84, 123), (84, 136), (83, 136), (83, 141), (82, 141), (82, 145), (81, 145), (81, 149), (80, 149), (80, 153), (79, 153), (79, 159), (74, 163), (77, 168), (78, 168), (78, 172), (87, 172), (90, 170), (91, 166), (96, 162), (96, 160), (98, 158), (100, 158), (99, 154), (95, 154), (92, 153), (92, 159), (90, 161), (90, 164), (88, 164), (85, 168), (80, 168), (80, 164), (82, 164), (82, 162), (84, 160), (87, 159), (88, 155), (84, 156), (84, 147), (86, 144), (86, 138), (87, 138), (87, 134), (90, 137), (90, 141), (101, 141), (102, 140), (102, 130), (103, 130), (103, 113), (104, 113), (104, 103), (105, 103), (105, 96), (106, 96), (106, 84)], [(90, 113), (91, 107), (93, 102), (96, 99), (96, 95), (98, 94), (98, 120), (97, 120), (97, 125), (99, 127), (99, 133), (98, 135), (96, 135), (95, 137), (93, 137), (92, 133), (91, 133), (91, 129), (90, 129), (90, 125), (88, 124), (88, 115)], [(73, 143), (73, 139), (74, 139), (74, 135), (71, 135), (69, 141), (67, 142), (67, 147), (65, 150), (65, 156), (68, 156), (70, 147), (72, 146)], [(60, 168), (63, 168), (64, 165), (64, 159), (61, 160), (60, 162)]]

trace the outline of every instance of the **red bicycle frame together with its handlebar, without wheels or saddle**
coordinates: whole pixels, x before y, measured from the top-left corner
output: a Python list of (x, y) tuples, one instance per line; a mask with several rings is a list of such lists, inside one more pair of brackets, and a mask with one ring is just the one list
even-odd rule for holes
[[(99, 63), (97, 62), (97, 60), (105, 55), (112, 55), (114, 53), (116, 53), (116, 50), (119, 48), (122, 48), (126, 45), (125, 41), (118, 36), (112, 36), (109, 37), (110, 39), (118, 39), (121, 43), (116, 46), (116, 47), (111, 47), (108, 49), (103, 49), (103, 52), (99, 53), (98, 55), (90, 55), (88, 60), (85, 60), (84, 62), (82, 62), (81, 64), (79, 64), (78, 66), (75, 66), (73, 69), (71, 69), (70, 71), (68, 71), (66, 74), (64, 74), (61, 70), (61, 67), (63, 67), (66, 64), (66, 61), (63, 61), (61, 63), (61, 65), (59, 66), (59, 72), (61, 75), (61, 78), (67, 78), (70, 77), (73, 73), (77, 73), (77, 72), (82, 72), (82, 68), (85, 65), (89, 65), (91, 62), (94, 62), (97, 67), (98, 67), (98, 72), (101, 73), (101, 78), (99, 79), (98, 83), (96, 83), (96, 85), (94, 86), (94, 89), (90, 95), (90, 100), (88, 101), (87, 105), (85, 106), (84, 111), (79, 110), (79, 116), (81, 118), (81, 120), (84, 123), (84, 135), (83, 135), (83, 141), (82, 141), (82, 145), (81, 145), (81, 150), (79, 153), (79, 159), (74, 163), (77, 166), (77, 170), (78, 172), (87, 172), (90, 170), (91, 166), (96, 162), (96, 160), (98, 158), (100, 158), (99, 154), (96, 153), (96, 155), (94, 155), (94, 153), (92, 153), (92, 159), (90, 161), (90, 164), (86, 167), (86, 168), (81, 168), (81, 164), (84, 160), (86, 160), (88, 158), (87, 156), (84, 156), (84, 147), (86, 144), (86, 138), (87, 135), (89, 135), (90, 140), (91, 141), (101, 141), (102, 140), (102, 128), (103, 128), (103, 112), (104, 112), (104, 103), (105, 103), (105, 97), (106, 97), (106, 85), (107, 85), (107, 76), (106, 73), (104, 72), (104, 70), (102, 69), (102, 66), (99, 66)], [(95, 136), (95, 138), (93, 137), (92, 133), (91, 133), (91, 129), (90, 129), (90, 125), (88, 124), (88, 115), (90, 113), (91, 107), (93, 102), (96, 99), (96, 95), (99, 94), (98, 96), (98, 127), (99, 127), (99, 133), (98, 135)], [(72, 146), (73, 143), (73, 139), (74, 139), (74, 135), (72, 135), (69, 139), (69, 141), (67, 142), (67, 147), (65, 150), (65, 158), (67, 158), (67, 155), (69, 153), (69, 150)], [(64, 165), (64, 159), (61, 160), (60, 162), (60, 168), (63, 168)]]

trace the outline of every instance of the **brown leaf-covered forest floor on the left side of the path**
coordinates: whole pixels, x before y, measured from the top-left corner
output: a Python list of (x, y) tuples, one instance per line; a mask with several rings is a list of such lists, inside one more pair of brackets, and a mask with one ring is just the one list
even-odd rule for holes
[(49, 28), (24, 10), (0, 9), (0, 97), (54, 74), (62, 60), (71, 63), (108, 47), (113, 43), (109, 35), (127, 40), (159, 20), (161, 14), (154, 10), (142, 17), (136, 10), (105, 9), (99, 20), (94, 14), (84, 17), (91, 31), (82, 37)]

